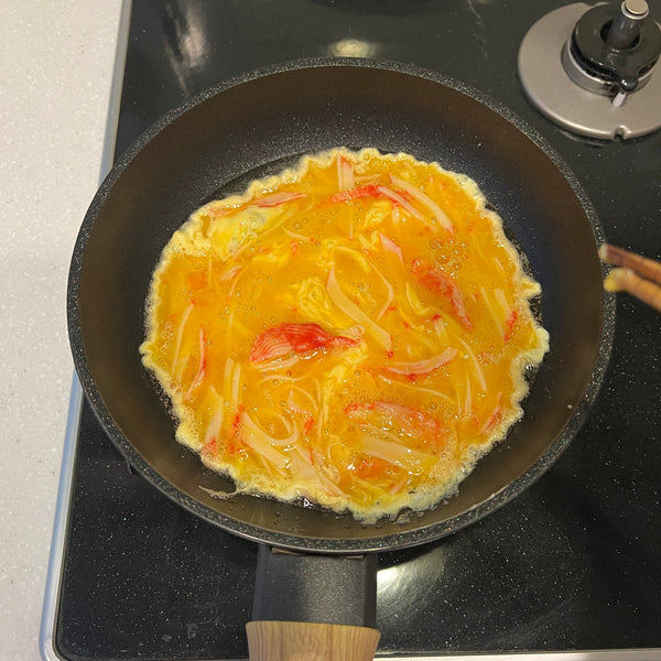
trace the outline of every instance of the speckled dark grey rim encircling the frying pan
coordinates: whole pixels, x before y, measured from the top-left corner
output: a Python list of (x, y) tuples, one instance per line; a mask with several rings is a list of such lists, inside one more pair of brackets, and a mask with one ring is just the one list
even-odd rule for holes
[[(587, 419), (589, 409), (597, 398), (599, 388), (602, 386), (604, 375), (608, 365), (610, 350), (614, 342), (614, 327), (615, 327), (615, 300), (611, 296), (604, 293), (603, 296), (603, 317), (602, 317), (602, 336), (597, 348), (596, 359), (593, 365), (593, 371), (588, 382), (585, 386), (583, 395), (579, 400), (579, 404), (575, 407), (572, 416), (567, 424), (564, 426), (562, 432), (549, 445), (545, 452), (533, 463), (524, 473), (518, 478), (509, 483), (506, 487), (499, 491), (492, 494), (490, 497), (483, 500), (472, 509), (465, 510), (458, 516), (446, 519), (442, 522), (431, 523), (419, 529), (407, 530), (401, 534), (389, 534), (383, 537), (376, 537), (373, 534), (367, 534), (366, 537), (355, 538), (315, 538), (307, 535), (295, 535), (291, 533), (274, 532), (266, 528), (259, 528), (252, 524), (248, 524), (238, 519), (228, 517), (217, 510), (214, 510), (205, 503), (196, 500), (188, 496), (184, 491), (180, 490), (167, 479), (162, 477), (133, 447), (133, 445), (126, 438), (119, 426), (115, 423), (109, 409), (101, 397), (101, 393), (97, 390), (90, 367), (87, 362), (85, 355), (85, 348), (83, 343), (83, 329), (79, 316), (79, 284), (80, 284), (80, 272), (83, 268), (85, 247), (87, 239), (94, 227), (94, 223), (99, 209), (102, 207), (109, 192), (118, 181), (123, 171), (129, 164), (136, 159), (136, 156), (151, 142), (156, 136), (163, 131), (167, 126), (175, 121), (178, 117), (184, 115), (189, 109), (204, 102), (207, 99), (215, 97), (218, 94), (231, 89), (234, 87), (243, 85), (249, 82), (257, 80), (259, 78), (286, 74), (292, 71), (307, 69), (307, 68), (322, 68), (322, 67), (360, 67), (360, 68), (377, 68), (386, 69), (392, 73), (400, 73), (404, 75), (415, 76), (418, 78), (424, 78), (430, 82), (441, 84), (445, 87), (449, 87), (460, 94), (464, 94), (474, 100), (478, 101), (483, 106), (486, 106), (492, 112), (496, 112), (503, 119), (506, 119), (516, 129), (522, 132), (528, 139), (530, 139), (538, 149), (540, 149), (546, 158), (551, 160), (553, 165), (560, 171), (562, 176), (571, 186), (574, 195), (576, 196), (583, 212), (585, 213), (586, 219), (589, 223), (592, 232), (595, 238), (595, 245), (600, 245), (605, 241), (604, 230), (599, 224), (596, 212), (584, 191), (583, 186), (578, 182), (577, 177), (571, 171), (568, 165), (563, 161), (560, 154), (552, 148), (546, 140), (530, 124), (523, 121), (519, 116), (512, 112), (509, 108), (490, 98), (488, 95), (466, 85), (463, 82), (451, 78), (442, 73), (434, 72), (427, 68), (422, 68), (415, 65), (402, 64), (392, 61), (383, 59), (365, 59), (365, 58), (328, 58), (328, 57), (315, 57), (294, 59), (277, 65), (267, 67), (260, 67), (239, 74), (227, 80), (219, 83), (202, 93), (197, 94), (177, 107), (165, 113), (159, 120), (153, 122), (145, 131), (143, 131), (136, 141), (120, 155), (117, 160), (112, 170), (108, 173), (93, 202), (87, 210), (83, 220), (80, 230), (78, 232), (74, 253), (72, 258), (72, 266), (69, 269), (68, 278), (68, 293), (67, 293), (67, 323), (68, 333), (71, 338), (71, 345), (73, 350), (74, 364), (76, 371), (78, 372), (80, 382), (86, 393), (87, 400), (90, 403), (93, 411), (98, 418), (105, 433), (110, 437), (112, 443), (123, 455), (123, 457), (137, 469), (137, 472), (145, 477), (152, 485), (159, 488), (170, 499), (174, 500), (180, 506), (183, 506), (196, 516), (210, 521), (219, 525), (220, 528), (228, 530), (239, 537), (249, 539), (254, 542), (269, 543), (275, 546), (285, 548), (290, 550), (299, 550), (306, 552), (319, 552), (319, 553), (333, 553), (340, 554), (346, 552), (351, 553), (365, 553), (365, 552), (378, 552), (392, 549), (403, 549), (409, 546), (419, 545), (427, 541), (437, 540), (440, 538), (452, 534), (470, 523), (474, 523), (481, 518), (486, 517), (498, 510), (500, 507), (512, 500), (525, 488), (531, 486), (537, 479), (545, 473), (545, 470), (560, 457), (564, 449), (568, 446), (571, 441), (575, 437), (578, 430)], [(602, 267), (602, 272), (605, 274), (606, 268)], [(373, 532), (378, 530), (377, 527), (366, 527), (367, 532)]]

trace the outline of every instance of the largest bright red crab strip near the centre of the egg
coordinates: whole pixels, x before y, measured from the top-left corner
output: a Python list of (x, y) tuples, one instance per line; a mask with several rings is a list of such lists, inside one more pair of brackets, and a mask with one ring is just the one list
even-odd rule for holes
[(257, 336), (250, 351), (250, 360), (261, 362), (290, 354), (306, 354), (328, 347), (354, 346), (357, 342), (353, 337), (333, 335), (318, 324), (281, 324)]

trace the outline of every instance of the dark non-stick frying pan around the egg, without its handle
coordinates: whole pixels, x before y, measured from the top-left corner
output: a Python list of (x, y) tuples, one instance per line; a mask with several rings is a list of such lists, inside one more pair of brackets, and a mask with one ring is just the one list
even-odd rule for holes
[[(338, 145), (404, 151), (474, 178), (542, 285), (538, 312), (551, 335), (522, 420), (480, 459), (458, 495), (420, 514), (370, 527), (348, 514), (266, 498), (213, 498), (205, 489), (231, 485), (176, 443), (163, 394), (138, 351), (152, 271), (187, 216), (303, 154)], [(614, 302), (604, 295), (597, 256), (603, 241), (570, 170), (494, 100), (441, 74), (395, 63), (286, 63), (203, 93), (117, 161), (74, 249), (67, 301), (74, 361), (91, 408), (136, 470), (225, 530), (326, 559), (421, 544), (516, 497), (578, 431), (613, 343)], [(356, 658), (371, 658), (366, 654)]]

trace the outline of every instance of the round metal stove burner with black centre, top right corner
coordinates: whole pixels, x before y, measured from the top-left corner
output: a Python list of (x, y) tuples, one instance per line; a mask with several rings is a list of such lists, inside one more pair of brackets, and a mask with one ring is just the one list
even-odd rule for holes
[(637, 138), (661, 127), (659, 25), (644, 0), (560, 8), (540, 19), (519, 50), (531, 102), (560, 126), (600, 139)]

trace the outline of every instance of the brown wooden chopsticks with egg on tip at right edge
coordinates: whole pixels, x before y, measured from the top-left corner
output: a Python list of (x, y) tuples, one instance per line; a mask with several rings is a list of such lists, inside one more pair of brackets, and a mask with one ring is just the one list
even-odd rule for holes
[(661, 312), (661, 263), (616, 246), (599, 248), (602, 261), (616, 267), (606, 277), (609, 292), (627, 292)]

